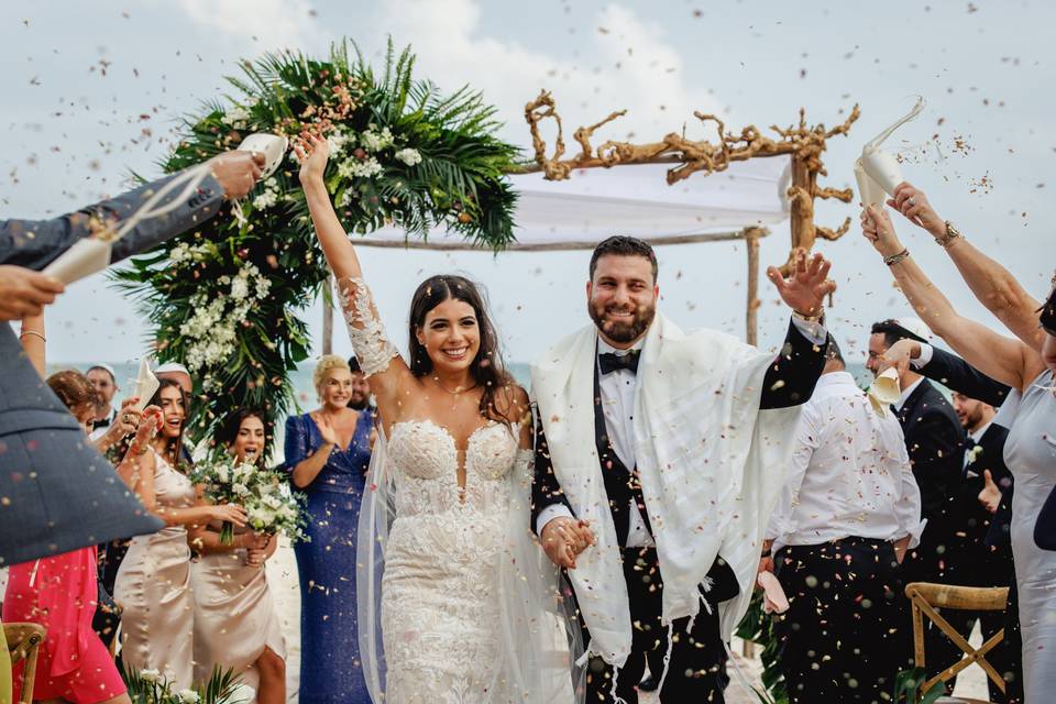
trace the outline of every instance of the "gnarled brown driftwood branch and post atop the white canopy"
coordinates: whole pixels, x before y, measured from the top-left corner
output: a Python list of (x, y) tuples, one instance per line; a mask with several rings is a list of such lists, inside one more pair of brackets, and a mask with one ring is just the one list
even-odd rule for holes
[[(777, 138), (762, 134), (755, 125), (741, 129), (739, 134), (729, 132), (717, 116), (695, 112), (694, 117), (702, 123), (715, 124), (717, 132), (715, 142), (689, 140), (684, 133), (672, 132), (659, 142), (631, 144), (607, 141), (594, 148), (592, 145), (594, 132), (626, 112), (626, 110), (613, 112), (595, 124), (576, 130), (574, 136), (580, 144), (580, 153), (565, 157), (561, 116), (557, 111), (553, 96), (549, 91), (541, 91), (535, 100), (525, 106), (525, 120), (531, 131), (535, 164), (525, 167), (521, 173), (542, 172), (549, 180), (563, 180), (569, 178), (572, 170), (576, 168), (610, 168), (623, 164), (672, 164), (668, 169), (667, 179), (669, 184), (675, 184), (698, 172), (707, 175), (725, 170), (733, 162), (766, 156), (790, 156), (792, 184), (788, 195), (792, 208), (792, 246), (789, 260), (791, 260), (791, 253), (799, 248), (811, 250), (817, 238), (828, 241), (837, 240), (849, 230), (850, 218), (835, 229), (816, 226), (814, 200), (834, 198), (850, 202), (854, 198), (854, 191), (849, 188), (820, 187), (817, 177), (828, 175), (822, 162), (826, 141), (837, 135), (846, 135), (850, 131), (850, 125), (861, 114), (857, 105), (846, 120), (832, 129), (826, 129), (824, 124), (807, 125), (806, 111), (803, 108), (800, 109), (799, 123), (787, 128), (770, 127)], [(558, 131), (553, 153), (549, 155), (547, 142), (540, 132), (540, 123), (548, 119), (554, 121)], [(782, 268), (787, 266), (788, 261)]]

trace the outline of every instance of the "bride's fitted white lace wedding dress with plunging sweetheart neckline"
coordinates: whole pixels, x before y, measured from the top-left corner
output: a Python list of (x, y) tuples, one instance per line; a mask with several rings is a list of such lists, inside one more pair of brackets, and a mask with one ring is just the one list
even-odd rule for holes
[(382, 580), (389, 702), (485, 701), (499, 652), (498, 574), (509, 473), (531, 452), (510, 428), (482, 427), (457, 481), (454, 440), (431, 421), (399, 422), (388, 442), (393, 522)]

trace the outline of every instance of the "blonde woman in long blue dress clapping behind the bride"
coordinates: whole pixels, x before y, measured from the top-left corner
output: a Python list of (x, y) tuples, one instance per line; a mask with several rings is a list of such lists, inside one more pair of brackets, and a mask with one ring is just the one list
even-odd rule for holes
[(301, 704), (369, 704), (356, 640), (355, 541), (374, 420), (361, 380), (326, 355), (312, 374), (321, 407), (286, 420), (286, 470), (308, 498), (297, 542)]

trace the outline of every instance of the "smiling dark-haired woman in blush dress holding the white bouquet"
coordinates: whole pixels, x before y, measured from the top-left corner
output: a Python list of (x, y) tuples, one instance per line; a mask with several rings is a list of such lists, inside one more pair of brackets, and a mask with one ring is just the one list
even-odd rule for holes
[[(264, 414), (240, 408), (218, 433), (234, 462), (264, 466)], [(252, 531), (220, 541), (219, 525), (190, 529), (190, 544), (200, 558), (190, 565), (195, 594), (195, 680), (207, 680), (215, 667), (232, 669), (256, 691), (257, 704), (286, 701), (286, 641), (267, 587), (264, 561), (275, 554), (275, 536)]]

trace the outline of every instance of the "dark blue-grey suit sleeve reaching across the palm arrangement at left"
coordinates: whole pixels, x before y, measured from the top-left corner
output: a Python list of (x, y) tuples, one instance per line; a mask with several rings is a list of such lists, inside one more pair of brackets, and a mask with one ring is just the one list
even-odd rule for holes
[[(140, 186), (116, 198), (103, 200), (50, 220), (0, 221), (0, 264), (13, 264), (43, 270), (77, 240), (86, 238), (98, 227), (97, 222), (120, 222), (135, 212), (158, 188), (176, 175)], [(168, 198), (180, 195), (176, 188)], [(217, 179), (208, 176), (187, 201), (172, 212), (140, 222), (113, 245), (111, 262), (144, 252), (165, 240), (190, 230), (217, 213), (223, 199), (223, 189)], [(170, 200), (163, 200), (170, 202)]]

